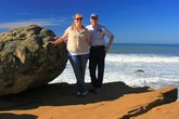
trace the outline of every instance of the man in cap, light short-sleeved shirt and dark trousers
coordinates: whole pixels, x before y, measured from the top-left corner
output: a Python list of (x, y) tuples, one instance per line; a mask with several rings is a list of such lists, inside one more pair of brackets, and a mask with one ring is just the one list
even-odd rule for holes
[[(108, 52), (111, 44), (113, 43), (114, 35), (104, 26), (98, 24), (99, 16), (97, 14), (91, 14), (90, 22), (91, 25), (87, 26), (87, 29), (91, 32), (89, 70), (91, 84), (93, 87), (92, 92), (98, 93), (101, 91), (103, 83), (105, 55)], [(110, 40), (107, 45), (105, 45), (105, 36), (108, 37)]]

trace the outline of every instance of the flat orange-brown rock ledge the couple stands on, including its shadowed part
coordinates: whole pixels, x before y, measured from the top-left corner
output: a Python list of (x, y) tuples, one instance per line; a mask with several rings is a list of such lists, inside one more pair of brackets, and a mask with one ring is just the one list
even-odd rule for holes
[(89, 92), (87, 97), (77, 97), (74, 88), (75, 84), (55, 83), (1, 96), (0, 119), (161, 119), (163, 114), (167, 115), (163, 119), (179, 117), (178, 102), (165, 104), (164, 95), (176, 98), (172, 87), (153, 90), (111, 82), (99, 94)]

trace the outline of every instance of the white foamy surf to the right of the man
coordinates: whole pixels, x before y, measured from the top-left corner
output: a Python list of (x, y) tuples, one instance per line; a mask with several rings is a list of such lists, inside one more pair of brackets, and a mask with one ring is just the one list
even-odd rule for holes
[[(150, 81), (179, 81), (179, 57), (156, 55), (116, 55), (106, 56), (108, 80), (119, 79), (128, 84), (141, 84)], [(143, 70), (144, 72), (138, 72)], [(117, 79), (117, 80), (118, 80)]]

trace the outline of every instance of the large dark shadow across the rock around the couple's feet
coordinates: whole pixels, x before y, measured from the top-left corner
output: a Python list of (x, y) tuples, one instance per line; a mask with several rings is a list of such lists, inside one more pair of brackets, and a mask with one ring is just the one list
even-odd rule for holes
[[(87, 87), (90, 89), (89, 83), (87, 83)], [(113, 101), (124, 94), (148, 92), (149, 88), (131, 88), (124, 82), (110, 82), (104, 83), (102, 92), (99, 94), (89, 92), (87, 97), (77, 97), (74, 94), (74, 89), (75, 84), (54, 83), (18, 94), (0, 96), (0, 115), (2, 115), (1, 111), (35, 109), (39, 106), (64, 106)]]

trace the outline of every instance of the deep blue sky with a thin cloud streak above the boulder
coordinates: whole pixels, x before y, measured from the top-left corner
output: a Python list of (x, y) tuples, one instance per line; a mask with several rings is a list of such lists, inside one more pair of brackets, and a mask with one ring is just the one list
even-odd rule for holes
[(36, 24), (60, 37), (75, 13), (85, 26), (99, 14), (115, 43), (179, 44), (179, 0), (1, 0), (0, 32)]

